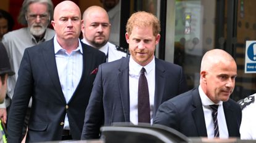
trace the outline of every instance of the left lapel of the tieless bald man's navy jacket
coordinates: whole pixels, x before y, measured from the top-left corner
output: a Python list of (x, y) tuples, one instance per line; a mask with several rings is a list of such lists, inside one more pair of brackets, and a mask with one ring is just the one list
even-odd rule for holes
[(52, 79), (52, 83), (54, 83), (54, 87), (57, 90), (57, 92), (62, 95), (60, 96), (61, 99), (65, 101), (64, 94), (62, 93), (62, 88), (60, 86), (60, 80), (59, 80), (59, 74), (57, 71), (57, 65), (55, 60), (55, 53), (54, 53), (54, 44), (53, 39), (51, 41), (44, 42), (43, 48), (43, 56), (44, 61), (46, 61), (46, 68), (49, 72), (49, 75)]

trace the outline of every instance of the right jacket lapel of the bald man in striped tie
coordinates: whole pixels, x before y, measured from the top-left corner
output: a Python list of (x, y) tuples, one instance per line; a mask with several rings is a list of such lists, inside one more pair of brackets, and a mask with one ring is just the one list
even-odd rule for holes
[(226, 125), (228, 127), (228, 134), (229, 136), (236, 136), (236, 126), (237, 125), (237, 120), (236, 120), (236, 116), (234, 116), (233, 114), (233, 109), (232, 107), (229, 107), (230, 104), (229, 102), (223, 102), (223, 110), (224, 110), (224, 114), (225, 114), (225, 118), (226, 118)]

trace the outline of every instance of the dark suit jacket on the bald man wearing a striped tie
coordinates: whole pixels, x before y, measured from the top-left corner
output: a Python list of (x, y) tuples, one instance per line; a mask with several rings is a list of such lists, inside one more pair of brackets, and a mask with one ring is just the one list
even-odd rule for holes
[[(239, 105), (229, 99), (223, 102), (229, 137), (240, 137), (242, 112)], [(159, 107), (154, 123), (174, 128), (185, 136), (207, 137), (204, 111), (198, 88), (170, 99)]]

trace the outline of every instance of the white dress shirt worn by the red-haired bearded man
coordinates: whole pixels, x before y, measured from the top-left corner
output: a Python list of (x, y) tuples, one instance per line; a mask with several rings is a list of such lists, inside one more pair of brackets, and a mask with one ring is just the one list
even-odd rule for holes
[[(130, 122), (138, 125), (138, 85), (142, 66), (130, 56), (129, 61), (129, 91), (130, 91)], [(151, 124), (155, 98), (155, 58), (144, 66), (147, 85), (149, 86), (149, 104), (151, 108)]]

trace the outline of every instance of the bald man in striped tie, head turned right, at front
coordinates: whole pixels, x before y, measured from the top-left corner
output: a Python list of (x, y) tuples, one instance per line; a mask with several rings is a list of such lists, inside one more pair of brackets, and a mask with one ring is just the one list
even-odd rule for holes
[(229, 99), (236, 75), (236, 62), (229, 53), (220, 49), (206, 52), (199, 87), (163, 102), (154, 123), (189, 137), (240, 137), (241, 108)]

